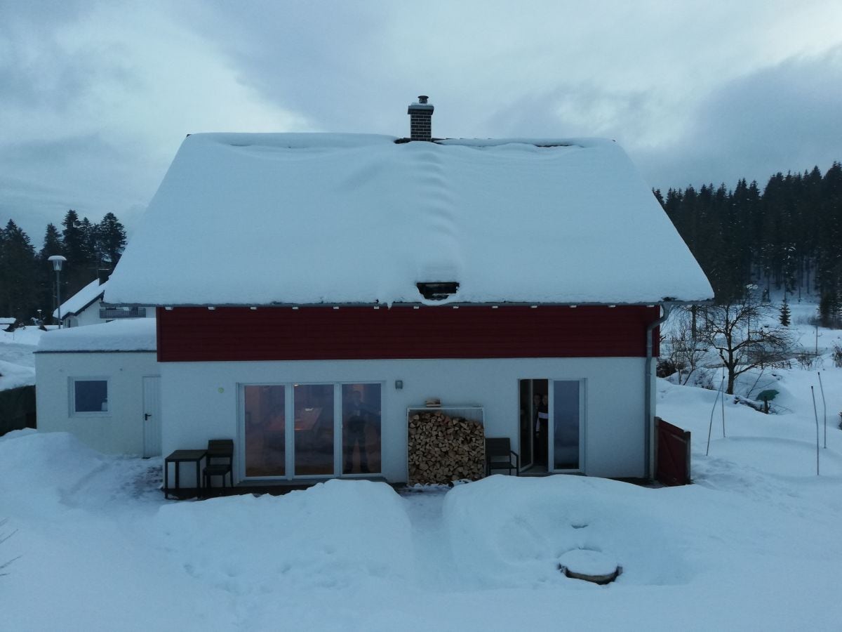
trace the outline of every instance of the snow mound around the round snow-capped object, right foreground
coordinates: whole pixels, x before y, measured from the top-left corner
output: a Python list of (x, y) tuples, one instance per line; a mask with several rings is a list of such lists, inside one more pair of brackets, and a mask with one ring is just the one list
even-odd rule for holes
[(653, 490), (608, 479), (496, 475), (451, 490), (444, 519), (456, 565), (482, 586), (572, 582), (559, 559), (579, 549), (621, 565), (618, 582), (685, 583), (662, 511)]

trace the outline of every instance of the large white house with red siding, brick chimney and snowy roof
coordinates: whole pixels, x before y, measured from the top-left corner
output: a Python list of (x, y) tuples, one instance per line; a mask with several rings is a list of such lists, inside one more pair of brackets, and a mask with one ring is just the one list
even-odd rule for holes
[(163, 453), (405, 481), (437, 398), (524, 469), (651, 477), (662, 307), (713, 295), (652, 191), (614, 142), (435, 140), (409, 110), (412, 139), (184, 141), (105, 291), (157, 305)]

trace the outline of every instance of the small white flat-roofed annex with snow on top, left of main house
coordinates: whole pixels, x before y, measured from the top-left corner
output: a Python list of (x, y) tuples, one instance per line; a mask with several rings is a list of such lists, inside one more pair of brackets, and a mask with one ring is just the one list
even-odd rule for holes
[(104, 453), (161, 453), (155, 320), (126, 319), (41, 335), (38, 429), (67, 431)]

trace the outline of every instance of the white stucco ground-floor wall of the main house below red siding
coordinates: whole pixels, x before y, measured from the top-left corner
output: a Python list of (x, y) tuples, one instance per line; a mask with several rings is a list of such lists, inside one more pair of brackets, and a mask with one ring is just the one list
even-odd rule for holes
[[(642, 477), (642, 358), (516, 358), (330, 362), (165, 362), (162, 372), (163, 453), (205, 447), (210, 438), (237, 445), (242, 474), (242, 384), (380, 382), (382, 473), (407, 479), (406, 409), (438, 397), (443, 404), (481, 404), (486, 435), (510, 437), (520, 450), (519, 379), (584, 379), (585, 474)], [(402, 380), (397, 390), (395, 381)], [(185, 467), (183, 485), (188, 485)]]

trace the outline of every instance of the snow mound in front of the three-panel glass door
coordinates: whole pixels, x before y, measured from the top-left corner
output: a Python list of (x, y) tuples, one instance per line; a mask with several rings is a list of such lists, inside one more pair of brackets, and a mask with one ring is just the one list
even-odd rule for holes
[(215, 588), (331, 591), (413, 575), (404, 503), (384, 483), (328, 480), (282, 496), (165, 505), (155, 524), (184, 570)]

